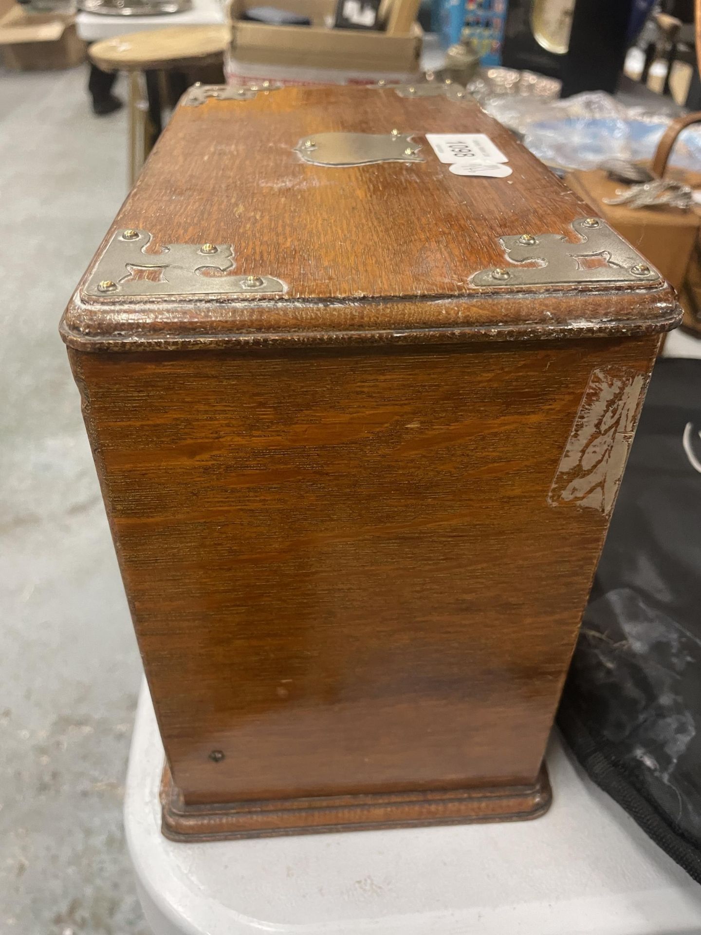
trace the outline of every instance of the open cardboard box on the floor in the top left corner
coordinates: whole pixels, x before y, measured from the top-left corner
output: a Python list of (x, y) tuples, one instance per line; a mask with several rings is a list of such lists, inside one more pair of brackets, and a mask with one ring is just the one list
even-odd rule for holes
[(86, 46), (69, 13), (28, 13), (13, 4), (0, 13), (0, 52), (7, 68), (70, 68), (85, 60)]

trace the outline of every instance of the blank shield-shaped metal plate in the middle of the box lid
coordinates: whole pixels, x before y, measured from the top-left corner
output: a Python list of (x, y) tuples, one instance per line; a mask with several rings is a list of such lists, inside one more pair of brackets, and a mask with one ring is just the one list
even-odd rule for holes
[(294, 147), (311, 165), (349, 166), (370, 163), (422, 163), (421, 146), (411, 134), (400, 133), (315, 133), (303, 137)]

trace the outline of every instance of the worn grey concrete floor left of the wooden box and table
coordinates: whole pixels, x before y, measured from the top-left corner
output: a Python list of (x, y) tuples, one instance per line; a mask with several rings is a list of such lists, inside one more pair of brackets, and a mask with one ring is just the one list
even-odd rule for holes
[(126, 194), (87, 71), (0, 71), (0, 932), (147, 935), (122, 838), (140, 664), (57, 325)]

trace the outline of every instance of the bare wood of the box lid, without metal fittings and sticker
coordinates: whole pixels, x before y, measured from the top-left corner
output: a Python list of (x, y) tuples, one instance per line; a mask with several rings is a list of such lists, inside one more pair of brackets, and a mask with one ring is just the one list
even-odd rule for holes
[[(294, 148), (322, 131), (412, 133), (421, 163), (308, 165)], [(508, 179), (455, 176), (423, 135), (485, 133)], [(391, 88), (283, 88), (249, 101), (181, 106), (112, 231), (232, 244), (235, 275), (274, 276), (284, 296), (135, 300), (80, 291), (64, 338), (83, 349), (232, 342), (471, 340), (664, 331), (678, 324), (661, 283), (479, 288), (508, 265), (499, 238), (554, 233), (591, 209), (471, 99)], [(389, 338), (388, 338), (389, 336)]]

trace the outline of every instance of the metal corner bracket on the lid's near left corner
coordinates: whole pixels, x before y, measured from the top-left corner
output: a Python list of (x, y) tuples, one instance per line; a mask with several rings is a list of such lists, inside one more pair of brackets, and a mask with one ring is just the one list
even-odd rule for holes
[(260, 295), (284, 293), (272, 276), (232, 276), (229, 244), (174, 243), (160, 253), (144, 252), (148, 231), (117, 231), (93, 268), (83, 295)]

